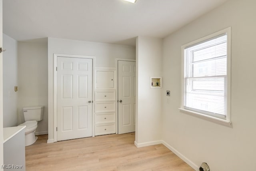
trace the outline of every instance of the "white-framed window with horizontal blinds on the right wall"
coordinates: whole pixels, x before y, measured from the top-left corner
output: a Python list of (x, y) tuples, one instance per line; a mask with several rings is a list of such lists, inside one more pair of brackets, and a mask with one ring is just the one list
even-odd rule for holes
[(230, 28), (182, 46), (181, 109), (230, 121)]

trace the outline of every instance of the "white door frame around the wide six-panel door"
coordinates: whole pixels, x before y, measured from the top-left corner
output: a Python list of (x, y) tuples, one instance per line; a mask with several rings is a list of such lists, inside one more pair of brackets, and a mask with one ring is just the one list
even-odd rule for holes
[[(94, 99), (94, 87), (96, 86), (94, 76), (95, 76), (95, 57), (94, 56), (82, 56), (82, 55), (69, 55), (69, 54), (54, 54), (53, 61), (53, 127), (54, 134), (53, 139), (54, 142), (57, 142), (57, 57), (67, 57), (67, 58), (86, 58), (92, 59), (92, 102)], [(92, 137), (94, 137), (94, 103), (92, 103)]]

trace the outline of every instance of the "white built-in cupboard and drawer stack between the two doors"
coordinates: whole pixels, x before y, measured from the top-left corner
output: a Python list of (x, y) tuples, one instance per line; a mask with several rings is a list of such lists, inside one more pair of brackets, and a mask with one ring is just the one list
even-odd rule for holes
[(116, 69), (96, 68), (94, 135), (116, 133)]

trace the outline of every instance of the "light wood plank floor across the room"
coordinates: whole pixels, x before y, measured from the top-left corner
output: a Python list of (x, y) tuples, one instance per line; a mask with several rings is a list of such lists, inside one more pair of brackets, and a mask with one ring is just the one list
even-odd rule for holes
[(26, 171), (194, 171), (164, 145), (137, 148), (135, 134), (102, 135), (26, 147)]

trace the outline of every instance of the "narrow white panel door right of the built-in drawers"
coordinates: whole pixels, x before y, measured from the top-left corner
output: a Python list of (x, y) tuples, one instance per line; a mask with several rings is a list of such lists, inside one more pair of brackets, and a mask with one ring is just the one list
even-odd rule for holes
[(118, 61), (118, 134), (135, 131), (136, 62)]

